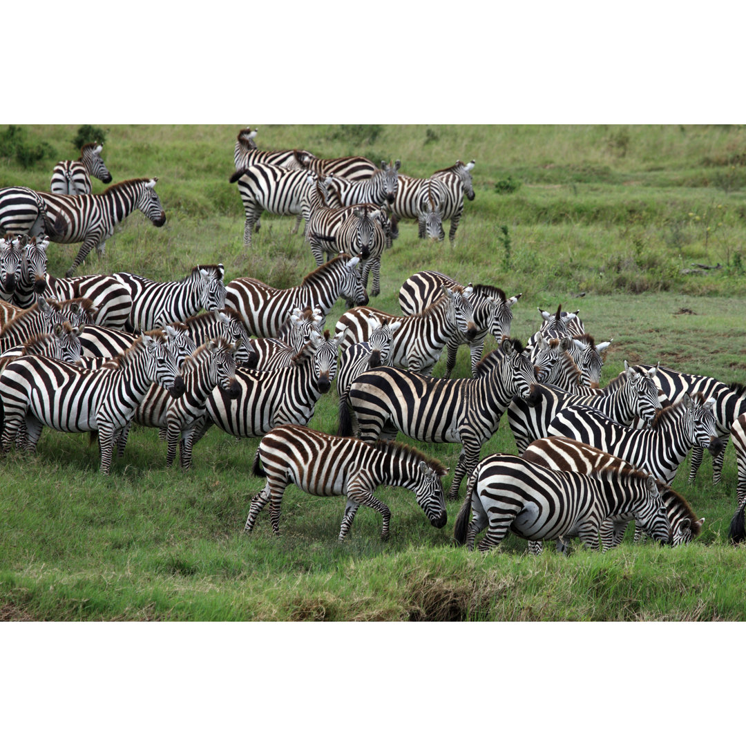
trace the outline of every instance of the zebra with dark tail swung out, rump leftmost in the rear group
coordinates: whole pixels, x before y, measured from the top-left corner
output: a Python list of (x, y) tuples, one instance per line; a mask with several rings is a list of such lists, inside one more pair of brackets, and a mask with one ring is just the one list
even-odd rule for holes
[(273, 215), (295, 215), (297, 233), (301, 225), (302, 200), (307, 192), (316, 189), (303, 169), (285, 169), (268, 163), (254, 163), (238, 169), (228, 181), (238, 184), (245, 216), (243, 242), (251, 246), (251, 233), (261, 214), (266, 210)]

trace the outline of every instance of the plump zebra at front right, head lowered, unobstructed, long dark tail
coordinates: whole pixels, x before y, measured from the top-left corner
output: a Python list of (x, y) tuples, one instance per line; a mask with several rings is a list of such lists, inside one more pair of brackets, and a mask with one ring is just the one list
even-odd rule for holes
[(454, 539), (473, 550), (477, 534), (486, 527), (480, 551), (497, 546), (508, 531), (533, 542), (580, 536), (586, 548), (598, 551), (604, 521), (629, 513), (653, 539), (671, 543), (671, 527), (651, 474), (629, 467), (577, 474), (494, 454), (471, 474)]

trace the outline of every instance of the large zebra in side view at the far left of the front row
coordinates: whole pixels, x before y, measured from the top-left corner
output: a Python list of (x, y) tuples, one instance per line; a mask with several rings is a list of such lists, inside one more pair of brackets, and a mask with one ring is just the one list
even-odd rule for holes
[(69, 433), (98, 431), (101, 473), (108, 474), (116, 437), (131, 419), (151, 383), (160, 383), (177, 397), (184, 380), (161, 332), (144, 334), (124, 354), (98, 370), (46, 357), (21, 357), (0, 376), (4, 406), (1, 449), (7, 452), (22, 421), (25, 448), (36, 451), (42, 427)]

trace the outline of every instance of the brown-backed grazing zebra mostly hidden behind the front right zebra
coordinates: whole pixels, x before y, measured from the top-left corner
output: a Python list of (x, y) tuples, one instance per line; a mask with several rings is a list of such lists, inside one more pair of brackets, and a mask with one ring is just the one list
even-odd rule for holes
[[(522, 457), (531, 463), (551, 468), (555, 471), (574, 471), (577, 474), (592, 474), (599, 468), (613, 468), (618, 472), (630, 468), (630, 464), (620, 458), (599, 451), (592, 445), (580, 443), (577, 440), (568, 438), (542, 438), (535, 440), (524, 451)], [(663, 501), (668, 523), (671, 524), (672, 544), (677, 547), (682, 544), (689, 544), (692, 539), (702, 533), (702, 524), (704, 518), (697, 518), (695, 512), (689, 506), (689, 503), (675, 492), (667, 484), (656, 480), (659, 495)], [(624, 531), (627, 524), (634, 518), (634, 515), (616, 515), (614, 518), (607, 518), (601, 525), (601, 545), (603, 551), (607, 551), (619, 545), (624, 537)], [(635, 532), (635, 541), (638, 540), (637, 531)], [(536, 546), (531, 546), (536, 544)], [(541, 554), (541, 542), (529, 542), (529, 548), (533, 554)], [(560, 549), (560, 542), (557, 548)], [(565, 551), (565, 545), (562, 545), (562, 551)]]

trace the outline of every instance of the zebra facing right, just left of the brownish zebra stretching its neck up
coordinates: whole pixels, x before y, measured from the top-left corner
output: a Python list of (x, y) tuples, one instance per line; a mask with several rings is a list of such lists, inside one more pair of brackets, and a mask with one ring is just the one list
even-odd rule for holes
[(201, 308), (206, 311), (225, 307), (225, 268), (222, 264), (198, 264), (183, 280), (158, 282), (116, 272), (115, 280), (128, 288), (132, 309), (125, 329), (154, 329), (172, 322), (184, 322)]

